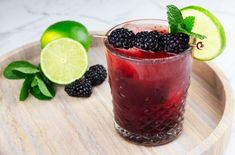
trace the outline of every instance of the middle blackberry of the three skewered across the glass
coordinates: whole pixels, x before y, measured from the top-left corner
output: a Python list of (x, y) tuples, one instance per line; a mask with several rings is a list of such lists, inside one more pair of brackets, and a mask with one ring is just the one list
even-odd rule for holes
[(161, 51), (161, 34), (157, 31), (142, 31), (138, 32), (133, 40), (133, 45), (137, 48), (143, 50), (151, 50), (151, 51)]

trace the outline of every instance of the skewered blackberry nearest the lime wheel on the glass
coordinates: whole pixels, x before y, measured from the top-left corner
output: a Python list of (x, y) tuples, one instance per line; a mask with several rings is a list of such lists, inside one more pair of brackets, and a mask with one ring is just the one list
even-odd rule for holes
[(184, 33), (166, 34), (162, 42), (165, 52), (181, 53), (189, 48), (189, 36)]

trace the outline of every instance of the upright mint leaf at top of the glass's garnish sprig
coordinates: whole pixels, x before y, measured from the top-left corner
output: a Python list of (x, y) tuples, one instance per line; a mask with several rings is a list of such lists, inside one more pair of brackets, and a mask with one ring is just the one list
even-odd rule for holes
[(176, 33), (178, 24), (183, 21), (183, 16), (180, 10), (174, 5), (167, 5), (167, 19), (170, 26), (170, 32)]

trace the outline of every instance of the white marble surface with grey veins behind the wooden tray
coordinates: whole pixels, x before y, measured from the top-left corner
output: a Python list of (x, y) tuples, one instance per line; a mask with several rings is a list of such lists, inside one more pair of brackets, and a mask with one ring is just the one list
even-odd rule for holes
[[(0, 0), (0, 56), (21, 45), (39, 40), (44, 29), (60, 20), (77, 20), (89, 30), (107, 30), (138, 18), (166, 18), (165, 6), (200, 5), (223, 23), (227, 47), (213, 60), (235, 88), (235, 1), (223, 0)], [(235, 121), (233, 122), (235, 126)], [(235, 154), (235, 128), (226, 155)]]

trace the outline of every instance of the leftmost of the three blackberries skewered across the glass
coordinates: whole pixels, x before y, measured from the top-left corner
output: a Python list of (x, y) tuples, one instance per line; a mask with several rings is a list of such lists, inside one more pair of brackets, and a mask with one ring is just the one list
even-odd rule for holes
[(132, 31), (125, 28), (118, 28), (110, 33), (108, 41), (114, 47), (128, 49), (133, 47), (132, 40), (134, 36), (135, 34)]

